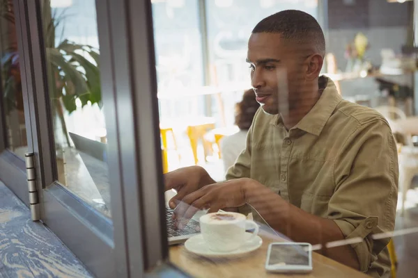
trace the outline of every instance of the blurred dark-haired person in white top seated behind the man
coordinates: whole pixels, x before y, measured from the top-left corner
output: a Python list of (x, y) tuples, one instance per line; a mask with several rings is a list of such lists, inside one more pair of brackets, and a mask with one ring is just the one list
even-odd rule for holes
[(235, 106), (235, 124), (240, 131), (221, 140), (221, 156), (225, 171), (235, 163), (242, 150), (245, 149), (247, 133), (258, 108), (260, 104), (256, 101), (254, 90), (246, 90), (242, 101)]

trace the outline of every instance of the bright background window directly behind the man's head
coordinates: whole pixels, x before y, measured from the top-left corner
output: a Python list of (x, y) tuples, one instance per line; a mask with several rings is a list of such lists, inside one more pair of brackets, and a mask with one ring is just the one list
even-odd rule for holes
[(215, 84), (242, 83), (248, 73), (247, 41), (256, 24), (281, 10), (297, 9), (317, 17), (318, 3), (306, 1), (206, 0), (210, 65)]

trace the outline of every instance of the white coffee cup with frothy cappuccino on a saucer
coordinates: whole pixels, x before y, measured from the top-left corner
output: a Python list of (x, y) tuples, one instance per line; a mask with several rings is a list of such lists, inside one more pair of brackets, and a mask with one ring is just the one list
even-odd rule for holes
[[(246, 225), (254, 226), (254, 232), (245, 232)], [(258, 234), (258, 224), (247, 220), (241, 213), (217, 212), (202, 215), (200, 227), (203, 240), (215, 252), (231, 252)]]

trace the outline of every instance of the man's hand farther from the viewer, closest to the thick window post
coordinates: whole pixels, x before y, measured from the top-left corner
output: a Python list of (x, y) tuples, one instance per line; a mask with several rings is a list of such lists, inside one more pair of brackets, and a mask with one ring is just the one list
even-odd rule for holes
[(177, 195), (170, 199), (170, 208), (176, 208), (177, 204), (186, 195), (215, 181), (210, 178), (208, 172), (200, 166), (180, 168), (176, 171), (164, 174), (165, 191), (174, 189)]

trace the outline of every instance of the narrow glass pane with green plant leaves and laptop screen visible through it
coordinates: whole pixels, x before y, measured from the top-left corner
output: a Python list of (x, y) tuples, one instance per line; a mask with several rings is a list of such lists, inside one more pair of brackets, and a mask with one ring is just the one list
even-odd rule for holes
[(50, 1), (42, 24), (57, 179), (110, 217), (95, 1)]

